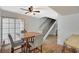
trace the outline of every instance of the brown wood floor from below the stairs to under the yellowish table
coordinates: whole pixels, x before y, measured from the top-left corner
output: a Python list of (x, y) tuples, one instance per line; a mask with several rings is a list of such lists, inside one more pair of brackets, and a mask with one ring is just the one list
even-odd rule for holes
[[(57, 37), (55, 35), (49, 35), (47, 40), (43, 44), (43, 53), (61, 53), (63, 46), (57, 45)], [(70, 48), (65, 49), (65, 53), (71, 53)]]

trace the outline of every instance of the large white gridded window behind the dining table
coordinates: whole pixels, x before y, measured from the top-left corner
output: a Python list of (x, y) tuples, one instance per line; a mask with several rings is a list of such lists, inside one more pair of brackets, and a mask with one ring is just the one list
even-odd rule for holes
[(8, 33), (11, 34), (14, 41), (20, 39), (23, 29), (24, 22), (21, 19), (2, 18), (2, 41), (5, 41), (5, 44), (10, 43)]

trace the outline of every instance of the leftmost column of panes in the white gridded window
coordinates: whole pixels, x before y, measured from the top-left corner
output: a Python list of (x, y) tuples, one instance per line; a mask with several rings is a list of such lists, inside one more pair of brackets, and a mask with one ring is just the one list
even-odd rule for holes
[(9, 28), (9, 20), (8, 18), (2, 18), (2, 41), (8, 42), (8, 28)]

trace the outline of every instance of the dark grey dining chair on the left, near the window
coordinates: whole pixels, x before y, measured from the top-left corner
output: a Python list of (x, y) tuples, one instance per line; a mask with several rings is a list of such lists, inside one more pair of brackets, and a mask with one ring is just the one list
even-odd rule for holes
[[(10, 43), (11, 43), (11, 53), (14, 53), (14, 51), (16, 51), (18, 49), (21, 49), (22, 52), (25, 51), (25, 43), (23, 42), (23, 40), (13, 41), (11, 34), (8, 34), (8, 37), (9, 37)], [(16, 47), (18, 47), (18, 48), (16, 48)]]

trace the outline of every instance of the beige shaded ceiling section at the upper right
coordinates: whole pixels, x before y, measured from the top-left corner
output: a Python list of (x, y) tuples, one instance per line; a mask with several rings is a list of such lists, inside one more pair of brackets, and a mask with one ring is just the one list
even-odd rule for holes
[(79, 6), (49, 6), (61, 15), (70, 15), (79, 13)]

